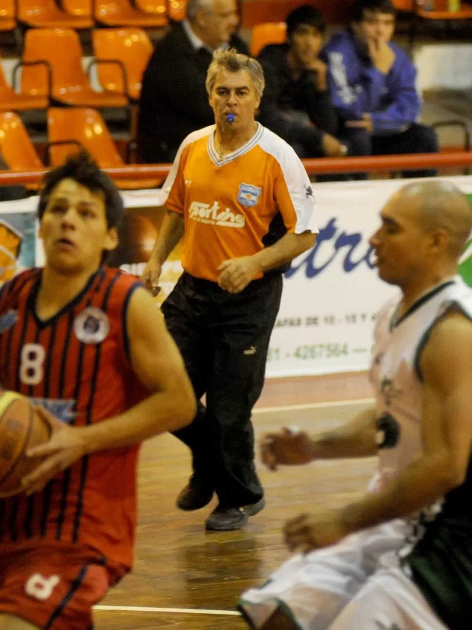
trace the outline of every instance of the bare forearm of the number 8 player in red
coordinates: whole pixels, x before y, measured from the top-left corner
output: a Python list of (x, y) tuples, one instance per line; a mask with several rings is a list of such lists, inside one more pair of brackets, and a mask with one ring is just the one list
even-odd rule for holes
[(84, 433), (87, 454), (91, 454), (175, 431), (191, 423), (195, 413), (193, 392), (157, 392), (120, 416), (78, 430)]

